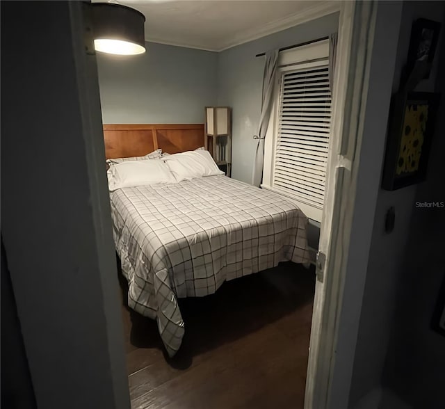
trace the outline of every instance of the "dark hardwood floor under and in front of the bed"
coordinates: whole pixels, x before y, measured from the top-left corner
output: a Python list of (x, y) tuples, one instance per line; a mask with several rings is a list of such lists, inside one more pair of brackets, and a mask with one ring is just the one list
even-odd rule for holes
[(186, 334), (171, 359), (156, 322), (123, 301), (131, 407), (302, 408), (314, 285), (312, 268), (282, 263), (179, 300)]

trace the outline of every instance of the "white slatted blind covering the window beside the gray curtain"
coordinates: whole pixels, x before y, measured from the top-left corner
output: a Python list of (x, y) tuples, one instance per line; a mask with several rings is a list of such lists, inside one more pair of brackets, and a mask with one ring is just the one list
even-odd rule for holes
[(323, 209), (331, 115), (327, 65), (282, 74), (279, 115), (274, 185)]

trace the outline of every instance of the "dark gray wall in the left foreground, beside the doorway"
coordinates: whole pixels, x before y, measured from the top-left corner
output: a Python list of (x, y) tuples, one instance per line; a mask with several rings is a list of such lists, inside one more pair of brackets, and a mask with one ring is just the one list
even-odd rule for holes
[(1, 235), (38, 408), (126, 409), (97, 67), (82, 9), (1, 2)]

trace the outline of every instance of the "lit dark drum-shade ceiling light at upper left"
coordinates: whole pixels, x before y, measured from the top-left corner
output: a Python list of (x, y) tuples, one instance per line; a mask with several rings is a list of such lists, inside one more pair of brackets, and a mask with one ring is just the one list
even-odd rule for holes
[(96, 51), (129, 56), (145, 53), (145, 16), (115, 3), (92, 3)]

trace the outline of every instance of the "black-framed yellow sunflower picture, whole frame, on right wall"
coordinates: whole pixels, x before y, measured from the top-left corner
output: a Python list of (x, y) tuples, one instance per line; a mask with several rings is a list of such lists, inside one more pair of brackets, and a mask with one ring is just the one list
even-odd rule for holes
[(401, 189), (426, 178), (439, 94), (394, 95), (387, 138), (382, 188)]

